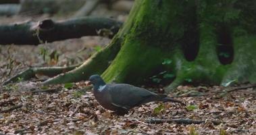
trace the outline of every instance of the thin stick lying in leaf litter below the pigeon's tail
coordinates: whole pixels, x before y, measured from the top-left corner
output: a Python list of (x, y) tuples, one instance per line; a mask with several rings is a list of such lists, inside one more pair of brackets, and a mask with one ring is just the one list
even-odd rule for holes
[[(222, 123), (222, 121), (211, 121), (214, 125)], [(176, 124), (203, 124), (205, 121), (194, 119), (149, 119), (146, 121), (148, 124), (163, 124), (163, 123), (176, 123)]]

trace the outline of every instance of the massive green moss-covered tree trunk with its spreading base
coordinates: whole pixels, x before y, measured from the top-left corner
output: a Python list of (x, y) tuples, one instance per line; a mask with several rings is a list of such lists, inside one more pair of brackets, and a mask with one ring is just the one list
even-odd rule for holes
[(253, 0), (137, 0), (108, 47), (45, 84), (91, 74), (107, 82), (170, 84), (166, 92), (184, 83), (255, 83), (254, 7)]

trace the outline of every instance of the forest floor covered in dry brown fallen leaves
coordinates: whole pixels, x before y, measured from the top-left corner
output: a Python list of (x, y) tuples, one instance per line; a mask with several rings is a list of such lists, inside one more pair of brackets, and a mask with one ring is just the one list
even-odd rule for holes
[[(26, 19), (0, 18), (0, 24)], [(80, 63), (109, 41), (89, 36), (39, 46), (0, 45), (0, 83), (30, 66)], [(250, 84), (178, 86), (169, 96), (186, 106), (148, 103), (118, 116), (103, 109), (83, 81), (41, 86), (36, 80), (45, 76), (36, 77), (0, 86), (0, 134), (256, 134), (256, 90)], [(149, 124), (150, 119), (193, 119), (201, 124)]]

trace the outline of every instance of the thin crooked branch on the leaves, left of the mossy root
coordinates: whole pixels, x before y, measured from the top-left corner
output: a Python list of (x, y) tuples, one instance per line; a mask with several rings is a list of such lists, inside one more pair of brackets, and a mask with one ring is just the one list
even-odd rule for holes
[(68, 72), (70, 70), (74, 70), (74, 68), (80, 66), (81, 63), (76, 65), (70, 65), (66, 67), (45, 67), (45, 68), (28, 68), (28, 70), (25, 70), (23, 72), (20, 72), (19, 74), (16, 74), (15, 76), (9, 78), (5, 82), (3, 82), (3, 85), (9, 84), (11, 82), (18, 82), (20, 80), (30, 80), (33, 78), (36, 74), (42, 74), (45, 76), (56, 76), (57, 74), (61, 74), (64, 72)]

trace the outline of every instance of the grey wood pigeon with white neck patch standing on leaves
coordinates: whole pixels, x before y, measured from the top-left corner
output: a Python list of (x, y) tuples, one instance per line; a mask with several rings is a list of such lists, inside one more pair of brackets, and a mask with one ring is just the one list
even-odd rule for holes
[(89, 78), (88, 84), (93, 84), (93, 94), (99, 104), (105, 109), (116, 111), (119, 115), (128, 113), (132, 107), (153, 101), (182, 103), (166, 94), (156, 94), (130, 84), (106, 84), (97, 74)]

